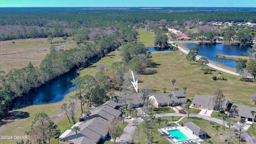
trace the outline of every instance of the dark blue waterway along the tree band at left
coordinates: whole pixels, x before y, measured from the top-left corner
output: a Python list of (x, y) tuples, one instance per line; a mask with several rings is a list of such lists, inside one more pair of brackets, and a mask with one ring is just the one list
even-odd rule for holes
[(30, 105), (59, 102), (64, 99), (66, 94), (71, 92), (70, 88), (75, 87), (70, 81), (78, 75), (77, 69), (72, 69), (66, 74), (62, 74), (54, 80), (34, 88), (28, 94), (14, 99), (10, 109), (15, 110)]

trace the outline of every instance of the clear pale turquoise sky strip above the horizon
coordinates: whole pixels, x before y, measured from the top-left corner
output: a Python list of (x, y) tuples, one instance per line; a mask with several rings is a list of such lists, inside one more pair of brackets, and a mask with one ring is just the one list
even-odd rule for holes
[(256, 7), (255, 0), (0, 0), (0, 7)]

